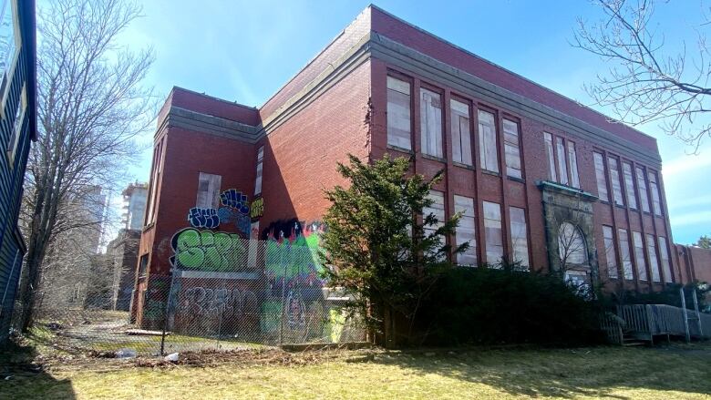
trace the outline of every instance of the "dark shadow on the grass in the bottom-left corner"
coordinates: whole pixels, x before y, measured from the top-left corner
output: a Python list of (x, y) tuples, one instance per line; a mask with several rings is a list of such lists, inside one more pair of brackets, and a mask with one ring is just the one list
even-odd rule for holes
[(12, 341), (0, 348), (0, 398), (76, 398), (71, 381), (48, 374), (36, 355), (35, 348)]

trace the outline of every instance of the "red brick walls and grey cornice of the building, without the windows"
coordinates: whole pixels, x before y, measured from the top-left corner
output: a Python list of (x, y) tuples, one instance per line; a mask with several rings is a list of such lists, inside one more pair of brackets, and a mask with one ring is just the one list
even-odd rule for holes
[[(406, 80), (412, 88), (412, 151), (387, 145), (388, 76)], [(417, 96), (420, 87), (438, 93), (444, 105), (448, 105), (451, 98), (468, 105), (473, 166), (462, 166), (452, 159), (448, 106), (442, 107), (441, 116), (444, 157), (423, 154)], [(508, 178), (503, 172), (489, 173), (479, 167), (476, 128), (479, 109), (495, 117), (500, 171), (506, 169), (503, 118), (518, 123), (521, 179)], [(582, 207), (589, 214), (585, 217), (589, 221), (585, 242), (590, 266), (584, 273), (600, 279), (611, 290), (624, 287), (650, 291), (663, 287), (665, 282), (691, 279), (689, 273), (682, 271), (673, 245), (660, 173), (661, 159), (654, 138), (623, 124), (611, 123), (590, 108), (410, 26), (376, 6), (369, 6), (358, 15), (262, 108), (248, 108), (174, 87), (160, 110), (158, 127), (149, 211), (139, 250), (139, 256), (147, 258), (145, 273), (137, 274), (139, 295), (149, 290), (150, 275), (170, 273), (170, 241), (177, 231), (190, 226), (186, 216), (188, 210), (195, 207), (200, 172), (222, 176), (220, 190), (240, 190), (252, 203), (256, 199), (263, 201), (263, 215), (252, 219), (252, 222), (259, 221), (259, 230), (252, 231), (251, 235), (252, 238), (257, 234), (264, 237), (268, 227), (283, 221), (318, 221), (328, 207), (323, 190), (344, 183), (335, 166), (336, 162), (344, 161), (348, 153), (362, 159), (380, 158), (385, 153), (413, 156), (413, 170), (425, 176), (444, 169), (445, 179), (436, 189), (445, 193), (447, 215), (454, 213), (455, 195), (475, 200), (479, 261), (485, 261), (486, 257), (486, 230), (481, 218), (483, 201), (500, 205), (503, 252), (507, 256), (513, 251), (510, 207), (525, 210), (530, 266), (547, 270), (551, 268), (548, 251), (551, 239), (547, 239), (547, 235), (551, 235), (548, 226), (551, 217), (544, 214), (546, 199), (541, 192), (545, 186), (541, 186), (541, 182), (549, 180), (543, 132), (571, 141), (575, 146), (580, 188), (558, 185), (562, 191), (551, 193), (567, 193), (573, 197), (582, 193), (582, 198), (588, 201)], [(262, 147), (263, 190), (255, 197), (257, 154)], [(660, 215), (630, 208), (627, 201), (619, 206), (612, 198), (596, 200), (599, 193), (593, 152), (603, 156), (605, 165), (609, 158), (618, 159), (621, 176), (623, 162), (633, 171), (637, 167), (643, 170), (644, 177), (640, 179), (644, 180), (650, 201), (648, 174), (655, 174)], [(639, 201), (642, 189), (636, 177), (635, 173), (634, 198)], [(605, 172), (604, 179), (608, 190), (612, 190), (609, 171)], [(626, 199), (624, 181), (621, 190)], [(549, 203), (558, 201), (555, 194), (547, 199)], [(151, 207), (155, 208), (153, 218)], [(610, 262), (605, 259), (603, 225), (615, 232), (617, 278), (607, 271)], [(621, 259), (620, 229), (630, 234), (631, 260)], [(223, 229), (221, 225), (220, 231), (239, 233), (232, 226)], [(642, 259), (634, 257), (632, 232), (639, 233), (644, 240), (647, 235), (654, 238), (654, 249), (648, 250), (645, 245), (644, 254), (639, 253), (644, 259), (645, 271), (641, 263), (638, 265)], [(652, 265), (654, 259), (663, 258), (661, 245), (668, 249), (670, 276), (659, 272), (659, 279), (654, 280), (657, 274), (652, 271)], [(623, 279), (623, 265), (627, 263), (631, 264), (632, 279)], [(139, 268), (140, 264), (139, 260)], [(641, 279), (644, 275), (646, 279)]]

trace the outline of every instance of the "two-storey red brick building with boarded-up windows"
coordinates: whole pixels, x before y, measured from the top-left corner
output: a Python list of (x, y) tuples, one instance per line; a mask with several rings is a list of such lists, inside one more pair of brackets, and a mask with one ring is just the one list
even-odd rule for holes
[(323, 190), (344, 183), (335, 165), (348, 153), (412, 156), (426, 176), (444, 169), (432, 211), (467, 211), (448, 238), (473, 244), (460, 263), (503, 256), (611, 289), (691, 279), (654, 138), (371, 5), (261, 108), (173, 88), (158, 118), (137, 292), (170, 273), (176, 232), (231, 221), (213, 215), (223, 190), (252, 210), (219, 231), (299, 234), (328, 207)]

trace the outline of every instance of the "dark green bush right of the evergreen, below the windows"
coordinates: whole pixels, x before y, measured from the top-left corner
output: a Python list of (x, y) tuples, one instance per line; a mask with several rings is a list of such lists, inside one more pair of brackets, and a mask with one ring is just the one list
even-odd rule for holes
[(430, 293), (420, 320), (428, 344), (589, 344), (603, 338), (598, 303), (560, 276), (457, 268)]

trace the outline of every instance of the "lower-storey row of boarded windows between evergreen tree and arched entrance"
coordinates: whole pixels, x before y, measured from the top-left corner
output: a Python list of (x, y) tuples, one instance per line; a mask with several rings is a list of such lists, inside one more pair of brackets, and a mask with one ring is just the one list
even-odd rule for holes
[[(429, 199), (432, 205), (422, 210), (424, 215), (434, 214), (438, 221), (445, 220), (445, 194), (438, 190), (431, 190)], [(455, 232), (455, 243), (460, 246), (469, 243), (469, 249), (457, 255), (460, 265), (478, 264), (477, 260), (477, 222), (474, 199), (454, 195), (454, 211), (462, 212), (463, 216)], [(503, 231), (501, 224), (501, 206), (499, 203), (483, 201), (484, 210), (484, 253), (485, 262), (497, 263), (504, 256)], [(529, 265), (529, 245), (526, 230), (526, 211), (518, 207), (510, 207), (510, 239), (512, 259), (521, 265)], [(435, 231), (438, 227), (428, 227), (426, 234)]]

